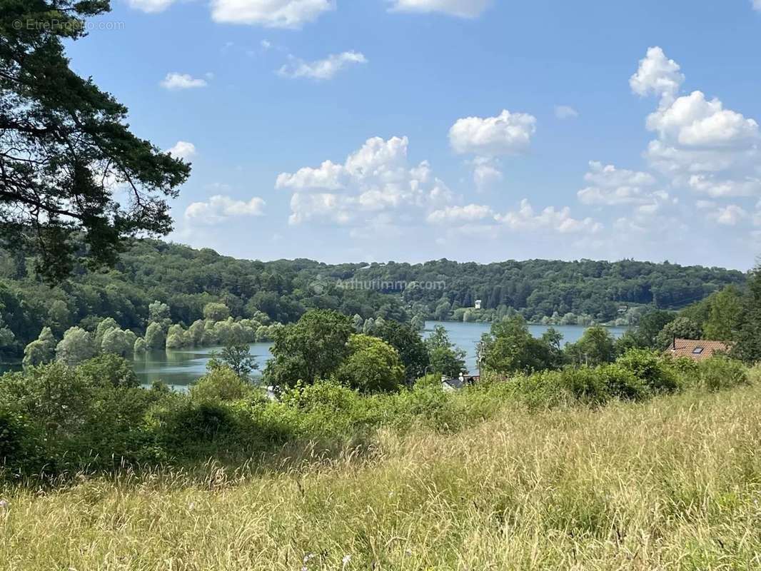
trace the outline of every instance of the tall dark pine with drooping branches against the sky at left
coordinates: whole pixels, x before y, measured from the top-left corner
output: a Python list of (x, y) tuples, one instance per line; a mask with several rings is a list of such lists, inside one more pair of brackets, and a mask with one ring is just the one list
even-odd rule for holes
[(108, 0), (0, 0), (0, 220), (5, 238), (34, 244), (37, 273), (52, 280), (75, 257), (113, 264), (124, 238), (167, 234), (166, 199), (190, 172), (132, 135), (126, 108), (69, 68), (64, 43), (109, 9)]

